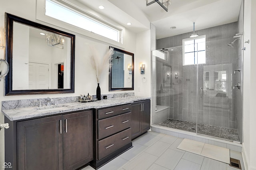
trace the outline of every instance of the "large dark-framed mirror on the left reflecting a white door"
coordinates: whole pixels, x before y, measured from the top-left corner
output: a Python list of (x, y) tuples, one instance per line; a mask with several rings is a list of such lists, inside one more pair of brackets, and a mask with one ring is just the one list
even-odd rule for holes
[(74, 93), (75, 35), (5, 14), (5, 95)]

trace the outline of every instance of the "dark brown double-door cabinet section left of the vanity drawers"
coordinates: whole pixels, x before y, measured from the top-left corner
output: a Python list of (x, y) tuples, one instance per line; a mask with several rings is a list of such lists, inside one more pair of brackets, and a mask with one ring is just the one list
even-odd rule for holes
[(74, 170), (93, 159), (92, 111), (20, 121), (16, 126), (13, 150), (18, 164), (13, 169)]

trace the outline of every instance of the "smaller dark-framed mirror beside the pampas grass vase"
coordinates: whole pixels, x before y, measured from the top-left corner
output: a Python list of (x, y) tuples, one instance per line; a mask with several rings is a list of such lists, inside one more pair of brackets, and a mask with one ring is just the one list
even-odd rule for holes
[(134, 90), (134, 53), (113, 48), (109, 73), (109, 91)]

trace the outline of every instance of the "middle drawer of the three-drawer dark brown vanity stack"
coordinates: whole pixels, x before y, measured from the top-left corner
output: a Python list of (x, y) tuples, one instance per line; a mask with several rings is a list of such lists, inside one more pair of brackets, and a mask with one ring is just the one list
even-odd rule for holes
[(98, 139), (131, 127), (131, 112), (98, 121)]

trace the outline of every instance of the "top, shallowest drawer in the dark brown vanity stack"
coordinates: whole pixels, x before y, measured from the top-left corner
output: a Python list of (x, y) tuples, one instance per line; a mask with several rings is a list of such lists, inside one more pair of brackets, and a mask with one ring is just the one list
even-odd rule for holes
[(100, 109), (100, 110), (98, 110), (98, 119), (103, 119), (103, 118), (112, 117), (115, 115), (120, 115), (122, 113), (127, 113), (129, 111), (131, 111), (131, 104), (110, 107), (107, 109)]

